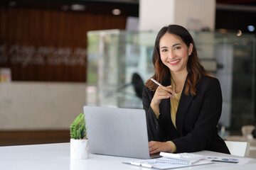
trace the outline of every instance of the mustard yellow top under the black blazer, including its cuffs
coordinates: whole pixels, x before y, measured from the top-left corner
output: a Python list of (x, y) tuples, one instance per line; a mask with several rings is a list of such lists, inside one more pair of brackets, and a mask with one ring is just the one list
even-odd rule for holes
[[(174, 90), (175, 89), (175, 84), (174, 84), (174, 81), (172, 79), (171, 79), (171, 86), (173, 87), (173, 90)], [(170, 99), (170, 103), (171, 103), (171, 121), (174, 124), (175, 128), (176, 128), (176, 113), (177, 113), (177, 109), (178, 109), (178, 103), (181, 99), (181, 92), (178, 93), (178, 94), (175, 94), (174, 98)], [(158, 120), (160, 113), (159, 112), (157, 113), (157, 112), (154, 111), (154, 115), (156, 116), (156, 119)], [(172, 145), (171, 152), (176, 152), (176, 145), (174, 144), (174, 142), (167, 141), (167, 143)]]

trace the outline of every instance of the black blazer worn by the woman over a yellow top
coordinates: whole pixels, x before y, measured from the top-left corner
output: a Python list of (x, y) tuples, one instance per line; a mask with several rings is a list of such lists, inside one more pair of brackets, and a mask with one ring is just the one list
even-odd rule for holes
[[(171, 79), (162, 83), (171, 84)], [(176, 152), (197, 152), (203, 149), (230, 154), (223, 139), (218, 135), (217, 124), (222, 111), (222, 94), (218, 79), (201, 77), (196, 84), (196, 95), (184, 94), (176, 113), (176, 128), (171, 122), (170, 98), (161, 101), (159, 120), (155, 118), (150, 107), (154, 96), (153, 91), (144, 86), (142, 94), (143, 108), (146, 111), (146, 121), (149, 141), (172, 141)]]

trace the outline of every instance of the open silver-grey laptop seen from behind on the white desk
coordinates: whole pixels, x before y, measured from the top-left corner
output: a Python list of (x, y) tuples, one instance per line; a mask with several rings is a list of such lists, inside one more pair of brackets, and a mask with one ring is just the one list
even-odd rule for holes
[(150, 159), (143, 109), (84, 106), (90, 153)]

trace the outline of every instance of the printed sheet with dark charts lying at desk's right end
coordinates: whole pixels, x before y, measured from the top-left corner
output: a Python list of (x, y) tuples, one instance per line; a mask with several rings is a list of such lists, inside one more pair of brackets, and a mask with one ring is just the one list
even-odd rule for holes
[(244, 165), (251, 160), (250, 158), (244, 158), (244, 157), (215, 157), (215, 156), (207, 156), (207, 159), (210, 162), (214, 162), (214, 163), (240, 164), (240, 165)]

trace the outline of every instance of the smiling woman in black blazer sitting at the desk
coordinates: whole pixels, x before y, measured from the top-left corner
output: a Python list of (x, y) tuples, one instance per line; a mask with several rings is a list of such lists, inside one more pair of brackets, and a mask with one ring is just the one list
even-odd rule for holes
[(222, 110), (218, 79), (198, 62), (196, 46), (186, 28), (161, 28), (154, 45), (152, 77), (143, 91), (149, 152), (197, 152), (203, 149), (230, 154), (218, 135)]

